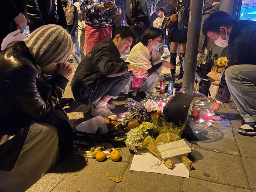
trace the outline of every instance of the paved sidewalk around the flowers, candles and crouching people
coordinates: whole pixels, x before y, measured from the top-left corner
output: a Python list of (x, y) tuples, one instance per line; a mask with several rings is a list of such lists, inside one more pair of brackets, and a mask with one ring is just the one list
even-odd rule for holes
[[(167, 73), (168, 70), (163, 71)], [(65, 97), (72, 97), (68, 85)], [(113, 103), (115, 113), (127, 110), (124, 96)], [(75, 101), (65, 108), (73, 128), (90, 119), (89, 106)], [(237, 129), (242, 118), (233, 102), (221, 105), (221, 121), (215, 122), (203, 134), (201, 141), (193, 142), (195, 151), (189, 156), (194, 168), (190, 178), (174, 177), (149, 172), (130, 171), (133, 155), (127, 148), (121, 152), (122, 161), (110, 159), (97, 162), (71, 154), (34, 184), (29, 192), (256, 192), (256, 137), (241, 136)], [(211, 132), (217, 133), (213, 134)], [(215, 149), (219, 153), (213, 151)], [(120, 183), (109, 180), (105, 174), (122, 175)]]

